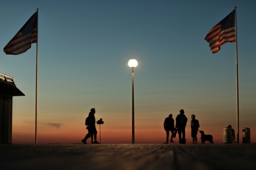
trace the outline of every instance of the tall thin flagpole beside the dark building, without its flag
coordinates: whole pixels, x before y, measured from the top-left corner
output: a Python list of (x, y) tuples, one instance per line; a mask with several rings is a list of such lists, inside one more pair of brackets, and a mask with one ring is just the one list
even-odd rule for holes
[(35, 144), (37, 144), (37, 93), (38, 93), (38, 8), (37, 8), (37, 42), (36, 42), (36, 75), (35, 75)]

